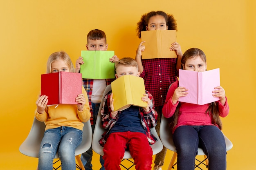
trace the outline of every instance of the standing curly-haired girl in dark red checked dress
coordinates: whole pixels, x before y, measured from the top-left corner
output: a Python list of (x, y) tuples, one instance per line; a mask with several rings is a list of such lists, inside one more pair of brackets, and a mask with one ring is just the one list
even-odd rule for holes
[[(152, 11), (141, 16), (141, 20), (137, 23), (137, 35), (141, 38), (141, 31), (149, 30), (177, 30), (176, 20), (173, 15), (166, 14), (163, 11)], [(182, 51), (177, 42), (171, 44), (170, 50), (175, 50), (177, 58), (155, 58), (141, 60), (142, 51), (145, 46), (142, 41), (137, 49), (135, 60), (139, 66), (140, 77), (144, 78), (145, 88), (155, 99), (155, 110), (158, 113), (158, 124), (156, 126), (159, 135), (160, 120), (162, 117), (162, 107), (165, 102), (166, 93), (170, 84), (177, 81), (177, 70), (180, 68), (180, 60)], [(162, 170), (164, 165), (164, 157), (166, 148), (155, 156), (154, 170)]]

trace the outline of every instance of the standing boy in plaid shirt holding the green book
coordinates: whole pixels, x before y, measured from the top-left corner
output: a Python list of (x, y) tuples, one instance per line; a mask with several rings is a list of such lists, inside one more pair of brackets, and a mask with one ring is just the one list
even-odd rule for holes
[[(94, 50), (106, 51), (108, 49), (106, 34), (99, 29), (91, 30), (87, 34), (86, 48), (89, 51), (94, 51)], [(119, 60), (119, 58), (116, 55), (114, 55), (109, 60), (110, 62), (116, 62)], [(80, 65), (83, 63), (84, 62), (82, 57), (79, 57), (76, 60), (76, 69), (75, 69), (76, 73), (79, 73)], [(83, 79), (83, 87), (85, 88), (88, 94), (88, 99), (89, 99), (92, 132), (94, 132), (95, 123), (96, 123), (103, 92), (106, 86), (111, 84), (111, 82), (114, 80), (115, 79)], [(86, 170), (92, 170), (92, 163), (91, 163), (92, 147), (87, 152), (81, 155), (81, 160)], [(105, 170), (103, 166), (104, 160), (102, 159), (102, 156), (100, 156), (100, 163), (101, 163), (100, 170)]]

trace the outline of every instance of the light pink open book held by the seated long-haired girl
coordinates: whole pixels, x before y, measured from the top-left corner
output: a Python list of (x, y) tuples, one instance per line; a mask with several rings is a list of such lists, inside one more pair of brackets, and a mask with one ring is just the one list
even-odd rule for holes
[(197, 72), (179, 70), (179, 87), (188, 89), (188, 95), (179, 98), (179, 102), (208, 104), (220, 100), (213, 97), (214, 87), (220, 86), (220, 68)]

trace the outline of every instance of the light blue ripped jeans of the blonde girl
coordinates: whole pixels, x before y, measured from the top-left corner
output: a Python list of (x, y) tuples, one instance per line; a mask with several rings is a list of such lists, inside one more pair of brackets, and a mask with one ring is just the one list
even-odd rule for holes
[(61, 126), (45, 131), (40, 144), (38, 170), (52, 170), (52, 161), (58, 150), (62, 170), (76, 170), (75, 149), (82, 142), (83, 131)]

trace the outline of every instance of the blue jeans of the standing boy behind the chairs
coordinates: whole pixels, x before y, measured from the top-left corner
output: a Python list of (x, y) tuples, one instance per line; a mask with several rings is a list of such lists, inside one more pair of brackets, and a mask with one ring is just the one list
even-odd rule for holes
[[(93, 113), (92, 133), (94, 132), (94, 128), (95, 128), (95, 124), (96, 124), (96, 120), (99, 112), (99, 106), (100, 106), (100, 103), (97, 103), (97, 104), (92, 103), (92, 113)], [(81, 155), (81, 161), (83, 162), (85, 170), (92, 170), (92, 147)], [(100, 170), (105, 170), (104, 160), (101, 155), (99, 157), (99, 162), (101, 163)]]

